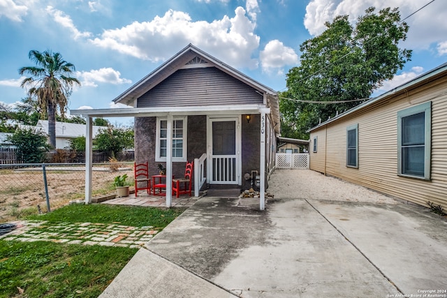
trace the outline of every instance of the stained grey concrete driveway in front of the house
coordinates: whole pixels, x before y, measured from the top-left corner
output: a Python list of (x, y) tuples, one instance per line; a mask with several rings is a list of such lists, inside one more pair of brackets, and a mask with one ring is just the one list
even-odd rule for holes
[(205, 197), (101, 297), (447, 297), (446, 257), (447, 221), (423, 207)]

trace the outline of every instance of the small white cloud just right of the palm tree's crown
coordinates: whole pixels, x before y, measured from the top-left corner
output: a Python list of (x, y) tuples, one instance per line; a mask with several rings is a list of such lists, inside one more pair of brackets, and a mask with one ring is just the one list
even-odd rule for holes
[(121, 73), (110, 67), (77, 72), (76, 75), (80, 78), (82, 86), (86, 87), (98, 87), (97, 82), (108, 84), (130, 84), (132, 82), (120, 77)]

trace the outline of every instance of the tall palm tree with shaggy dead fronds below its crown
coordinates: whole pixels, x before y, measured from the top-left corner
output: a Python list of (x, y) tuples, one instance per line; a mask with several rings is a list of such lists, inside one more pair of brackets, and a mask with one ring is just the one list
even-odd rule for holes
[(27, 74), (20, 87), (27, 87), (29, 96), (35, 96), (43, 116), (48, 117), (48, 135), (50, 145), (56, 147), (56, 110), (59, 107), (61, 117), (65, 117), (68, 97), (73, 91), (73, 84), (81, 85), (78, 79), (71, 77), (75, 66), (62, 59), (61, 54), (50, 50), (29, 51), (29, 59), (37, 66), (19, 69), (20, 75)]

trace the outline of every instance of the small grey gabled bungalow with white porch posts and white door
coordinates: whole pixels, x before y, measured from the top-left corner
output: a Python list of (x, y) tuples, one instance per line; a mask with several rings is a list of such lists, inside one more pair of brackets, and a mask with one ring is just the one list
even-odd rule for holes
[[(149, 161), (149, 174), (166, 165), (166, 185), (195, 161), (196, 195), (205, 182), (242, 186), (244, 174), (260, 174), (260, 209), (274, 168), (279, 134), (276, 91), (256, 82), (193, 45), (117, 96), (131, 108), (71, 110), (87, 118), (87, 169), (91, 169), (91, 119), (135, 117), (135, 161)], [(85, 202), (91, 202), (91, 170)], [(172, 189), (166, 188), (166, 207)]]

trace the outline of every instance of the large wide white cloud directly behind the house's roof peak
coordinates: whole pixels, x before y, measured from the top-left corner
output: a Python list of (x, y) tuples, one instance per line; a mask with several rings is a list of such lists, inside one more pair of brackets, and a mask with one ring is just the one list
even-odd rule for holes
[(189, 43), (235, 67), (256, 68), (251, 54), (259, 46), (244, 8), (235, 9), (235, 16), (223, 16), (213, 22), (191, 20), (187, 13), (168, 10), (163, 17), (150, 22), (133, 22), (120, 29), (105, 30), (91, 40), (105, 47), (139, 59), (163, 61)]

